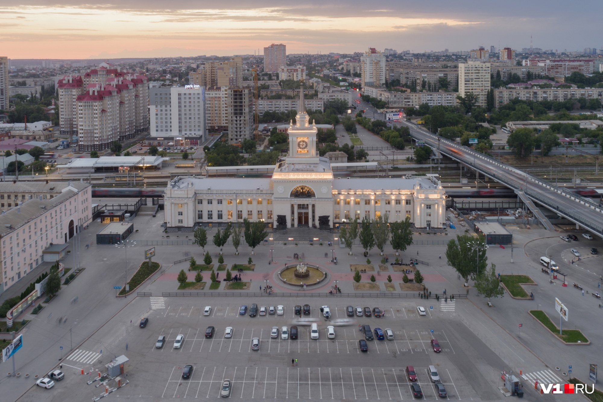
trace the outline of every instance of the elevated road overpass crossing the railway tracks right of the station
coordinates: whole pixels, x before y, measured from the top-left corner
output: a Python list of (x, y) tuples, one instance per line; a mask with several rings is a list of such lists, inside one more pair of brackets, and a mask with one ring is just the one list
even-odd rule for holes
[[(458, 145), (429, 133), (429, 131), (411, 122), (402, 121), (400, 125), (406, 125), (410, 129), (411, 136), (414, 139), (423, 140), (426, 145), (431, 146), (436, 151), (439, 149), (447, 157), (464, 163), (464, 165), (476, 169), (479, 173), (505, 184), (505, 186), (513, 189), (524, 201), (529, 198), (557, 212), (558, 215), (564, 216), (564, 218), (603, 237), (603, 209), (599, 206), (597, 200), (586, 198), (554, 186), (554, 184), (534, 177), (513, 166), (501, 163), (467, 146)], [(534, 207), (532, 212), (541, 219), (541, 222), (543, 222), (547, 229), (552, 229), (550, 222), (548, 222), (539, 210), (537, 211), (537, 208)]]

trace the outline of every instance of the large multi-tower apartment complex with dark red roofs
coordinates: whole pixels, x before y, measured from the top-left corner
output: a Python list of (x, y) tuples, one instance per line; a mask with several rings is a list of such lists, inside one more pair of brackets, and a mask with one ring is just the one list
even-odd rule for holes
[(58, 81), (60, 130), (78, 136), (80, 151), (109, 149), (148, 130), (148, 84), (145, 75), (101, 63), (84, 75)]

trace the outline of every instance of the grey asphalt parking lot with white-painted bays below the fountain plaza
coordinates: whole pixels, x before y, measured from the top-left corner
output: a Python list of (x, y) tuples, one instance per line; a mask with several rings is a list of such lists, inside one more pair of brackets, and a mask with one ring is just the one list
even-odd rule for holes
[[(440, 306), (435, 300), (303, 297), (262, 298), (257, 302), (260, 301), (258, 307), (282, 304), (285, 311), (283, 315), (250, 317), (247, 309), (246, 315), (240, 315), (242, 304), (250, 307), (256, 301), (235, 297), (136, 298), (92, 338), (66, 354), (65, 380), (50, 390), (33, 388), (26, 395), (31, 399), (23, 400), (63, 389), (73, 391), (57, 394), (66, 401), (78, 400), (78, 390), (101, 394), (102, 388), (86, 385), (93, 374), (81, 375), (80, 370), (104, 372), (104, 365), (121, 354), (130, 359), (125, 366), (130, 383), (116, 391), (122, 397), (218, 398), (221, 384), (228, 378), (233, 382), (230, 397), (239, 400), (412, 399), (406, 366), (414, 366), (424, 397), (434, 400), (440, 397), (429, 378), (429, 365), (437, 368), (448, 399), (479, 400), (484, 395), (476, 389), (481, 390), (484, 385), (490, 385), (488, 392), (498, 392), (495, 365), (484, 365), (487, 356), (479, 357), (479, 362), (468, 357), (474, 354), (468, 348), (481, 341), (467, 339), (470, 332), (459, 333), (459, 328), (463, 331), (464, 327), (459, 327), (452, 303)], [(380, 306), (371, 305), (370, 301), (378, 301)], [(311, 305), (311, 314), (294, 316), (294, 306), (306, 303)], [(321, 305), (329, 305), (330, 319), (320, 313)], [(212, 307), (207, 316), (203, 315), (205, 306)], [(350, 317), (346, 306), (379, 307), (385, 315)], [(425, 307), (427, 314), (418, 315), (417, 306)], [(142, 317), (149, 318), (145, 328), (138, 327)], [(318, 339), (311, 339), (312, 322), (318, 324)], [(215, 327), (215, 333), (206, 338), (210, 325)], [(292, 325), (298, 327), (298, 339), (281, 339), (280, 334), (271, 338), (272, 327), (280, 330)], [(335, 327), (334, 339), (327, 338), (328, 325)], [(371, 330), (391, 328), (394, 339), (367, 341), (368, 351), (362, 352), (358, 342), (364, 339), (361, 325), (370, 325)], [(231, 338), (224, 338), (226, 327), (233, 327)], [(182, 345), (174, 348), (174, 340), (180, 334), (184, 338)], [(159, 336), (165, 336), (166, 341), (157, 348)], [(259, 350), (252, 350), (253, 338), (259, 339)], [(440, 353), (431, 347), (433, 338), (439, 341)], [(297, 364), (292, 365), (292, 359), (297, 359)], [(187, 379), (182, 378), (185, 365), (194, 368)], [(68, 396), (71, 394), (72, 399)]]

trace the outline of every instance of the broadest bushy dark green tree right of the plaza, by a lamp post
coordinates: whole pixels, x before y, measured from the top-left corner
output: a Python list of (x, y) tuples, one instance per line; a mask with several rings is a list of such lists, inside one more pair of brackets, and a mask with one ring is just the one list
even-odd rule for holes
[(479, 272), (484, 272), (488, 258), (486, 257), (483, 236), (476, 239), (470, 234), (458, 234), (456, 240), (451, 239), (446, 248), (446, 263), (456, 269), (456, 272), (464, 278), (465, 286), (467, 286), (469, 278), (475, 278), (478, 272), (478, 266), (476, 265), (478, 249), (472, 250), (470, 243), (473, 242), (477, 242), (479, 245)]

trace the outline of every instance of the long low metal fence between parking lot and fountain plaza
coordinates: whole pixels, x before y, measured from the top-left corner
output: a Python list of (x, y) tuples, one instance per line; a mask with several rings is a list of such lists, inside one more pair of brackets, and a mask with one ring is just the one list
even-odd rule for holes
[[(297, 292), (297, 293), (273, 293), (271, 295), (264, 292), (162, 292), (163, 297), (380, 297), (380, 298), (421, 298), (422, 292), (413, 293), (393, 293), (393, 292), (382, 292), (382, 293), (316, 293), (316, 292)], [(466, 299), (467, 295), (463, 294), (450, 294), (454, 298)], [(432, 299), (435, 300), (435, 295), (432, 295)]]

